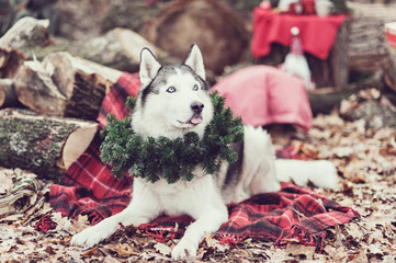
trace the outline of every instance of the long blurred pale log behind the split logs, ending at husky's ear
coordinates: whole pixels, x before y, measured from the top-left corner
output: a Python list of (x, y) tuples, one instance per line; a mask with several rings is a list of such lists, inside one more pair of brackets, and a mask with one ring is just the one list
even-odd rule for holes
[[(144, 47), (150, 48), (157, 56), (165, 56), (143, 36), (126, 28), (114, 28), (103, 36), (86, 42), (37, 47), (34, 49), (34, 54), (41, 60), (52, 53), (68, 52), (105, 67), (136, 72), (139, 69), (140, 50)], [(33, 57), (30, 56), (29, 58), (32, 59)]]

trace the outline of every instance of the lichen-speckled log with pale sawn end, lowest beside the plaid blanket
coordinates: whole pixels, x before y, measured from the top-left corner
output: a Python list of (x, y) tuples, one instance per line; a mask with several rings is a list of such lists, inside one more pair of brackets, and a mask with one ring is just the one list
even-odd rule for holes
[(41, 178), (60, 175), (87, 149), (98, 124), (37, 115), (31, 111), (0, 111), (0, 165), (30, 170)]

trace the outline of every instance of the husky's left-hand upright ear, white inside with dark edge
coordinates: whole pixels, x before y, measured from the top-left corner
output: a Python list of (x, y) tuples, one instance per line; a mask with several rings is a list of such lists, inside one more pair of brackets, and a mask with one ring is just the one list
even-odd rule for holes
[(146, 88), (151, 82), (161, 67), (150, 49), (146, 47), (142, 49), (139, 69), (142, 88)]

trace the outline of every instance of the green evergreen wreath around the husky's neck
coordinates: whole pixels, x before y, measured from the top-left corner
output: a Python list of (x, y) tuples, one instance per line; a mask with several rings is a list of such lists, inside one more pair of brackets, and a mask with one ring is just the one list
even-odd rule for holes
[[(225, 99), (211, 94), (214, 117), (206, 126), (204, 136), (190, 132), (183, 138), (142, 138), (131, 127), (131, 115), (116, 119), (106, 116), (108, 125), (101, 132), (104, 141), (100, 147), (101, 160), (112, 165), (112, 174), (120, 179), (128, 171), (137, 178), (155, 183), (165, 179), (168, 183), (179, 180), (191, 181), (196, 165), (206, 174), (218, 171), (220, 159), (233, 163), (238, 153), (231, 145), (244, 139), (240, 117), (234, 118), (233, 111), (224, 106)], [(133, 112), (136, 99), (128, 98), (126, 106)]]

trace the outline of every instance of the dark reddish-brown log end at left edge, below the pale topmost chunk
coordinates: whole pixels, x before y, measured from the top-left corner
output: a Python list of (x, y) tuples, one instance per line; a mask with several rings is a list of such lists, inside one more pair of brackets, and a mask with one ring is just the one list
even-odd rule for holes
[(19, 50), (0, 47), (0, 78), (13, 78), (18, 68), (25, 60), (25, 56)]

